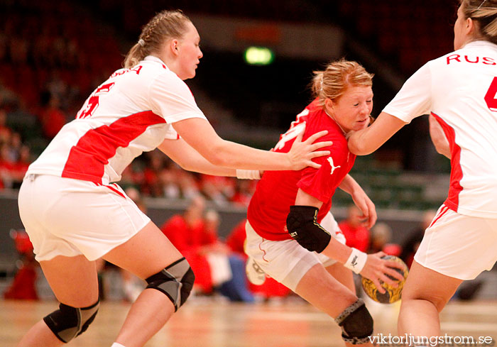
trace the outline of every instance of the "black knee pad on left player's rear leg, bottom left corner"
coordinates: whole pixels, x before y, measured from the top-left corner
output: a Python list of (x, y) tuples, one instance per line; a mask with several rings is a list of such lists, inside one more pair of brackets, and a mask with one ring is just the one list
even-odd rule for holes
[(89, 307), (75, 308), (60, 304), (57, 311), (43, 318), (48, 328), (62, 342), (69, 342), (88, 329), (97, 316), (100, 300)]

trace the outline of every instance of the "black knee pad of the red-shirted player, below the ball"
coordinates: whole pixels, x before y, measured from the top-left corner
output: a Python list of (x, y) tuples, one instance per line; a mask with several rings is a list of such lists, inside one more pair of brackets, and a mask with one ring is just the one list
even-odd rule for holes
[(345, 342), (354, 345), (368, 343), (368, 336), (373, 334), (373, 317), (362, 299), (357, 299), (347, 307), (335, 321), (342, 326), (342, 338)]

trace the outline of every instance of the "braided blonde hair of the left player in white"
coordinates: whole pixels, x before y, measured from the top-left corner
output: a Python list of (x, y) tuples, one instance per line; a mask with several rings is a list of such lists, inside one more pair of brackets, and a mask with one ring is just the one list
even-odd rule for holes
[(129, 69), (144, 57), (158, 53), (165, 40), (182, 38), (187, 31), (190, 18), (180, 10), (161, 11), (143, 27), (138, 43), (133, 45), (124, 58), (123, 66)]

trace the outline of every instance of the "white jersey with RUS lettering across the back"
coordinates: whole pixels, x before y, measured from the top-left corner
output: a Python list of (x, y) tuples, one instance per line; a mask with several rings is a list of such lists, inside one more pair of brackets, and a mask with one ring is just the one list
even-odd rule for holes
[(409, 123), (431, 114), (450, 144), (450, 209), (497, 218), (497, 45), (468, 43), (427, 62), (384, 112)]

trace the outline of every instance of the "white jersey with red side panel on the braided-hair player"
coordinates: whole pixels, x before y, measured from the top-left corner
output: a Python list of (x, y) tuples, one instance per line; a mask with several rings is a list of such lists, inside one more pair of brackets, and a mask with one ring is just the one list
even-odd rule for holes
[(138, 155), (165, 138), (179, 138), (172, 123), (190, 118), (205, 119), (190, 89), (158, 57), (148, 56), (95, 89), (26, 175), (117, 182)]

